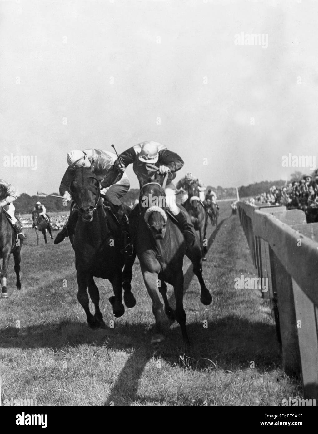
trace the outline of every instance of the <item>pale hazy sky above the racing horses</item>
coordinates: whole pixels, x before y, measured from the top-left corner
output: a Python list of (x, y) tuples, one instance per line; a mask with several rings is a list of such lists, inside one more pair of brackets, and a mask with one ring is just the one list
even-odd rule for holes
[(0, 178), (56, 192), (68, 151), (145, 140), (182, 157), (176, 180), (310, 172), (282, 158), (316, 156), (317, 17), (311, 0), (0, 1)]

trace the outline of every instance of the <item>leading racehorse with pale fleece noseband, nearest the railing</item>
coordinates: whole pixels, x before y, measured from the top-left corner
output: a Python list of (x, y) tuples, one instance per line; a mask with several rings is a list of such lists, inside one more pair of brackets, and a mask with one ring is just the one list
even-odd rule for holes
[[(150, 197), (152, 202), (148, 205), (153, 204), (155, 199), (155, 203), (161, 204), (161, 206), (147, 207), (147, 201), (144, 199)], [(182, 272), (185, 255), (192, 261), (193, 272), (199, 279), (201, 302), (209, 305), (212, 302), (212, 297), (202, 278), (202, 256), (198, 237), (196, 235), (194, 246), (187, 249), (181, 230), (167, 213), (166, 207), (163, 206), (165, 205), (165, 202), (162, 201), (163, 197), (165, 197), (165, 192), (161, 184), (156, 179), (149, 179), (149, 182), (144, 184), (140, 190), (139, 216), (134, 215), (134, 218), (129, 219), (129, 225), (136, 227), (136, 252), (146, 289), (152, 299), (152, 313), (156, 320), (151, 343), (164, 340), (162, 335), (163, 305), (159, 297), (159, 293), (161, 293), (166, 315), (170, 320), (176, 319), (179, 323), (187, 349), (189, 338), (186, 331), (186, 312), (183, 309)], [(157, 202), (156, 199), (158, 199)], [(134, 211), (132, 214), (135, 214)], [(169, 306), (166, 283), (173, 286), (176, 299), (175, 311)]]

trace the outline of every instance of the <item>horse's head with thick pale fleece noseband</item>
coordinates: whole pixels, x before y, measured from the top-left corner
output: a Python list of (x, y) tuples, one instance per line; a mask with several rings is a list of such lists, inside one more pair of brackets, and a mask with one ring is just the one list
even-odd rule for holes
[(166, 234), (166, 195), (159, 183), (149, 180), (140, 190), (141, 214), (155, 240), (162, 240)]

